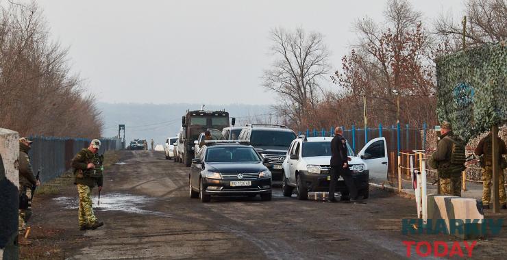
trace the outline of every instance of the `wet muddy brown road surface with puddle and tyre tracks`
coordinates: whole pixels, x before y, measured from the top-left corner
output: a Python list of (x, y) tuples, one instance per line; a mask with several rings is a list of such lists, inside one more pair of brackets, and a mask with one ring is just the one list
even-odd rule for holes
[[(23, 259), (406, 259), (406, 240), (454, 237), (402, 235), (401, 219), (416, 218), (415, 203), (372, 189), (364, 204), (285, 198), (188, 197), (188, 168), (163, 153), (122, 151), (122, 164), (106, 169), (101, 205), (105, 225), (79, 231), (77, 192), (69, 183), (58, 194), (34, 200)], [(506, 218), (506, 211), (486, 218)], [(473, 259), (505, 259), (502, 233), (478, 241)], [(412, 257), (415, 255), (412, 248)], [(466, 252), (466, 251), (465, 251)]]

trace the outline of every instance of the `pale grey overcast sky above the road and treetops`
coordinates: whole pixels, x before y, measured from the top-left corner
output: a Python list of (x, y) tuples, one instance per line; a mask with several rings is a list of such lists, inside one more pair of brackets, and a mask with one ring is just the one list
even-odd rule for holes
[[(5, 1), (2, 1), (5, 4)], [(260, 86), (274, 27), (319, 31), (333, 68), (356, 35), (351, 23), (382, 21), (386, 1), (38, 0), (73, 70), (108, 103), (272, 104)], [(410, 1), (432, 21), (462, 0)], [(325, 83), (334, 88), (332, 83)]]

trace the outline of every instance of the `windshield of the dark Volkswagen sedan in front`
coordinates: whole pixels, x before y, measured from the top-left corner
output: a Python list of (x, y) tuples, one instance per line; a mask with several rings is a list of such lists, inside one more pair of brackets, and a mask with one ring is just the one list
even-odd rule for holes
[(261, 161), (251, 147), (213, 147), (206, 151), (206, 162)]

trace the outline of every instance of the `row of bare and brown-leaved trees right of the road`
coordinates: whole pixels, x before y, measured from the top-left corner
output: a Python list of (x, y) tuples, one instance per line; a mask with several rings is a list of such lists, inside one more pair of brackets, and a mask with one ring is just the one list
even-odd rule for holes
[[(506, 40), (506, 6), (504, 0), (467, 0), (465, 47)], [(354, 21), (358, 38), (334, 72), (319, 32), (271, 31), (275, 61), (264, 71), (263, 86), (280, 96), (274, 109), (287, 125), (363, 127), (364, 106), (369, 126), (438, 124), (433, 60), (462, 50), (462, 21), (441, 14), (426, 23), (406, 0), (389, 0), (383, 14), (384, 21)], [(333, 90), (322, 88), (328, 81)]]

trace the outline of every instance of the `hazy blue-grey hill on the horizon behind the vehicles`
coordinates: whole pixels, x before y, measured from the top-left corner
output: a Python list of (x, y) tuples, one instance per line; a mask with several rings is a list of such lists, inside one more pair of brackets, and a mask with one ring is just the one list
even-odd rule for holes
[[(98, 103), (104, 120), (104, 137), (118, 135), (118, 125), (125, 124), (125, 139), (127, 143), (134, 138), (151, 138), (155, 144), (161, 144), (165, 138), (175, 136), (182, 125), (182, 116), (186, 110), (197, 110), (197, 104), (140, 104), (140, 103)], [(236, 117), (236, 125), (246, 122), (269, 122), (269, 105), (206, 105), (205, 110), (225, 109), (230, 117)], [(273, 115), (271, 122), (277, 118)]]

